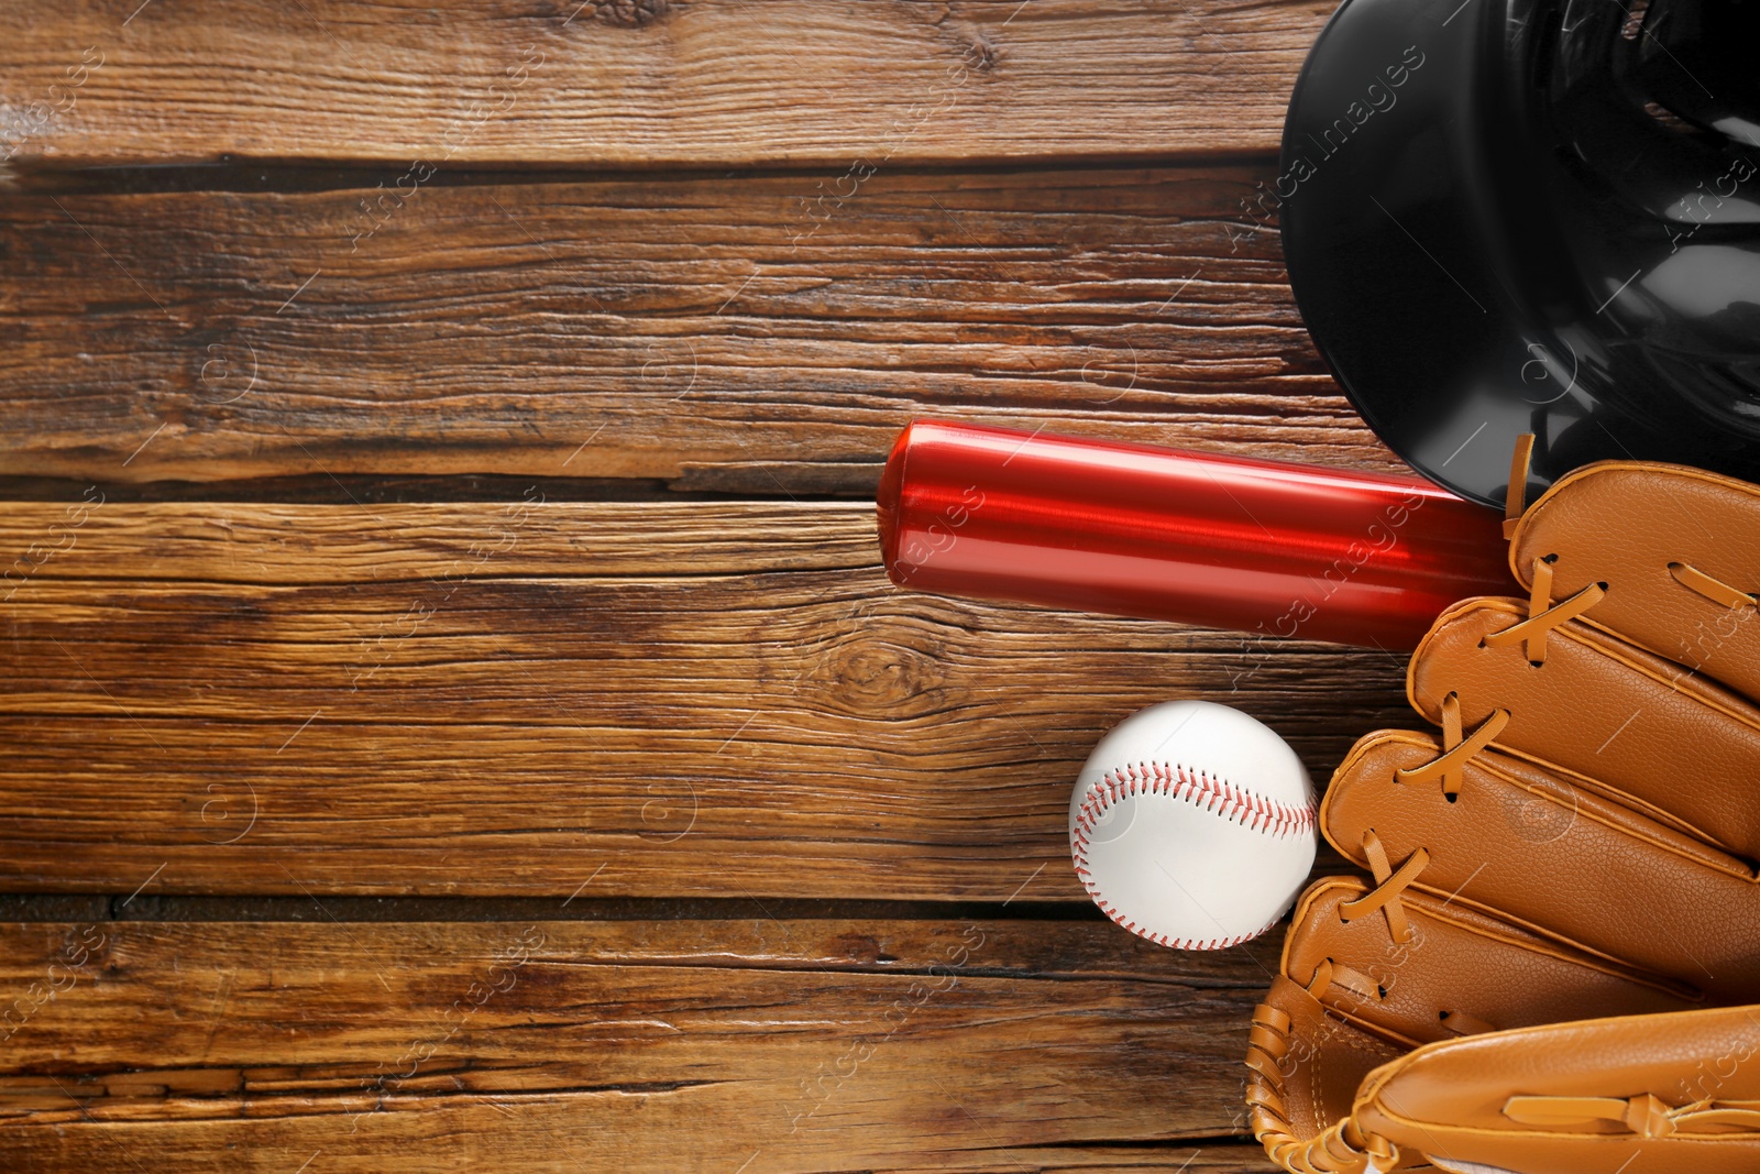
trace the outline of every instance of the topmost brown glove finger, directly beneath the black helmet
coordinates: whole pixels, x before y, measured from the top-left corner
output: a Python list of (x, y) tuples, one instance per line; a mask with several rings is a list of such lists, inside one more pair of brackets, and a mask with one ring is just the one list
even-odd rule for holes
[(1528, 590), (1593, 583), (1598, 627), (1760, 699), (1760, 488), (1697, 468), (1609, 461), (1552, 484), (1510, 540)]

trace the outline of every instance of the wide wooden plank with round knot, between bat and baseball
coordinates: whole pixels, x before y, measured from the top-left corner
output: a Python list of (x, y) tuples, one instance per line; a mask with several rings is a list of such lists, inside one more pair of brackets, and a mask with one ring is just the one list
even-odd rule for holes
[(1318, 780), (1410, 722), (1392, 655), (894, 590), (859, 505), (19, 503), (0, 551), (14, 891), (1081, 901), (1126, 713)]

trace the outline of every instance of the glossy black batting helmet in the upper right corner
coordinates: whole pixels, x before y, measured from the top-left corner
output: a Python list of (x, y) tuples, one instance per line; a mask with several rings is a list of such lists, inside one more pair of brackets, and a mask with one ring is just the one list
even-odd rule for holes
[(1369, 426), (1503, 505), (1607, 458), (1760, 481), (1760, 0), (1345, 0), (1276, 213)]

